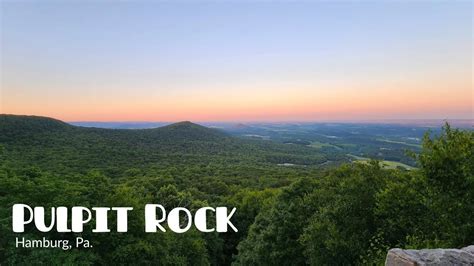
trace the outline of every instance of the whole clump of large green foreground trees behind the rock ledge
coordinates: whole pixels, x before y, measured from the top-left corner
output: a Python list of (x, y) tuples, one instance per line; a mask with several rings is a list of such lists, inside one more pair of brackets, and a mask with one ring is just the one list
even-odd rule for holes
[(473, 147), (473, 132), (446, 125), (426, 135), (418, 170), (372, 161), (331, 170), (309, 190), (297, 181), (257, 216), (236, 264), (381, 265), (392, 247), (472, 244)]

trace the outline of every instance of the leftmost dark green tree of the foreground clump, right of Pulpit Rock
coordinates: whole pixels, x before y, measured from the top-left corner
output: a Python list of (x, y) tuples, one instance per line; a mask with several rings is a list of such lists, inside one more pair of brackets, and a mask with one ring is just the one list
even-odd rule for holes
[(311, 215), (306, 195), (314, 186), (314, 179), (305, 178), (282, 190), (273, 206), (257, 216), (247, 239), (239, 244), (237, 265), (304, 263), (298, 238)]

